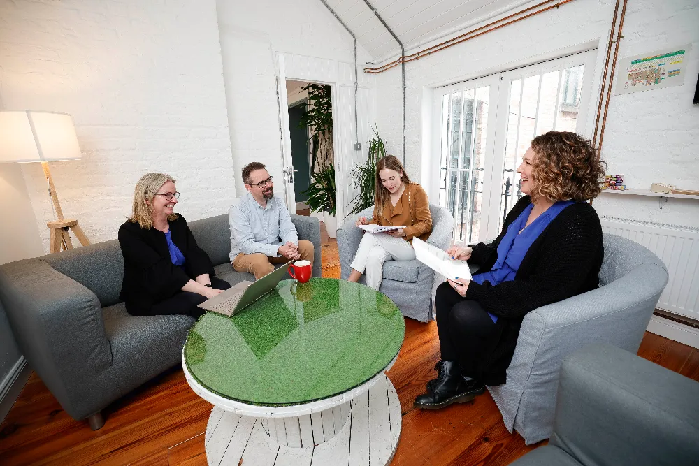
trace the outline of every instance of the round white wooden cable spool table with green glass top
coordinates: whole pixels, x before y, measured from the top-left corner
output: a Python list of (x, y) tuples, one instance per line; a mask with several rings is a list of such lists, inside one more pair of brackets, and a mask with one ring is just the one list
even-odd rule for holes
[(401, 405), (384, 371), (404, 336), (389, 298), (334, 279), (280, 282), (236, 316), (202, 316), (182, 367), (214, 405), (208, 464), (388, 464)]

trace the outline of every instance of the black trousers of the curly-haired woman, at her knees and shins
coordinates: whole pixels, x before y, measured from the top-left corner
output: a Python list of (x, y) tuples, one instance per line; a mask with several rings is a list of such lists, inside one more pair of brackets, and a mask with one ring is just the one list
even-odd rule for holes
[(442, 360), (456, 361), (461, 374), (482, 380), (484, 360), (500, 339), (502, 326), (476, 301), (465, 300), (449, 282), (440, 284), (435, 298)]

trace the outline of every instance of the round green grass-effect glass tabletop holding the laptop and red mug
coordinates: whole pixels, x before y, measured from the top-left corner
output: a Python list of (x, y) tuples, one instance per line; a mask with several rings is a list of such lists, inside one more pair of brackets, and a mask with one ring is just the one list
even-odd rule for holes
[(284, 280), (226, 317), (207, 312), (189, 330), (184, 360), (207, 390), (250, 405), (301, 405), (339, 395), (396, 357), (405, 321), (362, 284)]

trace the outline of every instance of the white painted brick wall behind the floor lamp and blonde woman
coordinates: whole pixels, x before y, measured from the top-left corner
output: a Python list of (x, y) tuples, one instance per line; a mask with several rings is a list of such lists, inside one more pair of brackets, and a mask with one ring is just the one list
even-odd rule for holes
[[(188, 220), (228, 211), (222, 73), (215, 0), (0, 2), (0, 108), (73, 115), (82, 159), (50, 168), (66, 218), (92, 242), (116, 238), (149, 171), (178, 180)], [(48, 252), (41, 166), (22, 172)]]

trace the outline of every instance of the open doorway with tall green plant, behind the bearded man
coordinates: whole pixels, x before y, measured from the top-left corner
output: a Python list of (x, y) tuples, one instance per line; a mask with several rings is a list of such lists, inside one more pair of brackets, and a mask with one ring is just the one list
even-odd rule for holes
[(296, 212), (318, 217), (322, 233), (336, 238), (331, 86), (286, 80), (286, 87)]

